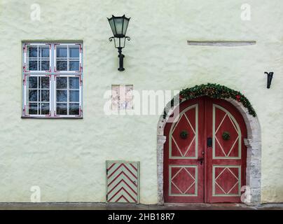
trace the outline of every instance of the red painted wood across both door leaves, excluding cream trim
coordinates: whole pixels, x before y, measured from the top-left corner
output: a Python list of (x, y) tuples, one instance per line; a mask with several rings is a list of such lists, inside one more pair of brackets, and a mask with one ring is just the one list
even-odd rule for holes
[[(198, 120), (195, 124), (194, 109), (186, 111), (189, 106), (198, 104)], [(212, 137), (212, 120), (213, 120), (213, 104), (221, 106), (223, 109), (226, 109), (237, 121), (240, 126), (242, 134), (242, 156), (240, 159), (213, 159), (212, 158), (212, 148), (207, 148), (207, 137)], [(195, 158), (170, 158), (170, 129), (174, 130), (172, 132), (172, 137), (177, 142), (179, 149), (185, 157), (193, 157), (195, 149), (195, 143), (191, 145), (191, 148), (186, 152), (191, 140), (193, 139), (193, 130), (188, 124), (187, 120), (184, 119), (184, 116), (180, 116), (179, 123), (167, 123), (165, 125), (165, 136), (166, 142), (164, 147), (164, 200), (165, 202), (240, 202), (240, 196), (230, 196), (229, 194), (239, 193), (239, 187), (235, 186), (237, 179), (235, 176), (239, 176), (238, 168), (229, 167), (229, 166), (240, 166), (241, 167), (241, 186), (245, 185), (245, 170), (246, 170), (246, 148), (244, 146), (244, 138), (247, 137), (247, 129), (244, 124), (244, 120), (240, 115), (239, 111), (235, 107), (221, 99), (210, 99), (208, 97), (201, 97), (199, 99), (193, 99), (186, 101), (180, 104), (179, 108), (180, 114), (186, 114), (188, 120), (191, 122), (191, 125), (195, 127), (198, 125), (198, 159), (204, 158), (202, 165), (198, 162), (198, 159)], [(219, 125), (225, 115), (223, 111), (216, 109), (215, 110), (216, 125)], [(228, 118), (228, 116), (226, 116)], [(235, 124), (234, 124), (235, 125)], [(175, 127), (177, 126), (177, 127)], [(224, 119), (222, 125), (219, 127), (218, 132), (216, 132), (216, 137), (219, 139), (219, 144), (221, 144), (223, 151), (228, 153), (230, 146), (233, 145), (234, 140), (237, 138), (237, 133), (233, 127), (233, 123), (230, 119)], [(188, 130), (188, 138), (181, 139), (179, 133), (182, 130)], [(221, 137), (223, 131), (230, 132), (230, 139), (224, 141)], [(217, 143), (216, 143), (217, 144)], [(237, 144), (235, 144), (237, 146)], [(234, 148), (235, 148), (234, 146)], [(237, 156), (237, 152), (234, 150), (230, 152), (230, 156)], [(202, 155), (202, 152), (205, 155)], [(223, 156), (221, 154), (221, 148), (216, 145), (216, 155)], [(172, 155), (181, 156), (176, 144), (172, 141)], [(189, 167), (189, 166), (195, 166)], [(216, 185), (215, 193), (216, 196), (212, 195), (212, 185), (213, 185), (213, 175), (212, 169), (213, 166), (226, 166), (226, 167), (215, 167), (215, 176), (219, 176), (216, 179), (216, 182), (219, 186)], [(225, 169), (226, 168), (226, 169)], [(198, 169), (198, 176), (195, 176), (195, 169)], [(225, 170), (224, 170), (225, 169)], [(171, 179), (174, 177), (170, 183), (170, 171)], [(221, 173), (222, 172), (222, 173)], [(233, 174), (232, 174), (233, 173)], [(190, 175), (191, 174), (191, 175)], [(235, 175), (235, 176), (234, 176)], [(193, 178), (198, 179), (198, 184), (193, 184)], [(174, 184), (173, 184), (174, 183)], [(171, 186), (171, 190), (170, 190)], [(191, 188), (189, 188), (191, 186)], [(235, 186), (235, 188), (232, 188)], [(197, 190), (197, 195), (193, 195)], [(230, 190), (230, 188), (232, 188)], [(188, 189), (186, 191), (186, 189)], [(230, 193), (228, 196), (222, 196), (223, 190), (225, 193)], [(186, 193), (185, 193), (186, 192)], [(183, 193), (183, 194), (182, 194)], [(217, 195), (221, 194), (221, 195)]]

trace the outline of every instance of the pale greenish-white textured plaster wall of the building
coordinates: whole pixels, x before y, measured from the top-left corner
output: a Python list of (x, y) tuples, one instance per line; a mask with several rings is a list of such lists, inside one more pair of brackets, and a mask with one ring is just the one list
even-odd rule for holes
[[(32, 21), (33, 3), (41, 20)], [(251, 21), (240, 19), (242, 3)], [(140, 202), (158, 202), (159, 116), (105, 116), (111, 84), (180, 90), (219, 83), (243, 92), (261, 125), (261, 202), (283, 202), (283, 1), (0, 0), (0, 202), (105, 202), (105, 160), (141, 162)], [(106, 17), (126, 14), (125, 68), (109, 43)], [(83, 120), (22, 120), (22, 41), (83, 41)], [(237, 48), (188, 40), (252, 40)], [(264, 71), (275, 76), (266, 89)]]

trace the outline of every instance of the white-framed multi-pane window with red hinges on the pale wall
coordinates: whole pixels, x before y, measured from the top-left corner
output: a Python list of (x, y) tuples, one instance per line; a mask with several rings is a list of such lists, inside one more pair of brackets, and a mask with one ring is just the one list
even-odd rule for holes
[(82, 118), (82, 43), (23, 43), (23, 118)]

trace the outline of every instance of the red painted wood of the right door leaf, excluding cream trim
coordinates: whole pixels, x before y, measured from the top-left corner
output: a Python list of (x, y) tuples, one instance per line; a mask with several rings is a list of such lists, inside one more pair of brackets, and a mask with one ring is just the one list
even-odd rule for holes
[[(241, 167), (241, 186), (244, 186), (246, 183), (246, 167), (247, 167), (247, 148), (244, 146), (244, 138), (247, 138), (247, 128), (244, 123), (244, 119), (242, 118), (242, 115), (240, 114), (237, 109), (235, 109), (235, 106), (230, 104), (229, 102), (226, 102), (225, 100), (221, 99), (206, 99), (206, 107), (205, 107), (205, 116), (207, 117), (207, 137), (212, 137), (212, 109), (213, 105), (217, 104), (223, 109), (226, 109), (230, 112), (230, 114), (235, 118), (238, 125), (240, 126), (241, 130), (241, 158), (240, 159), (213, 159), (212, 158), (212, 148), (207, 148), (207, 202), (209, 203), (215, 203), (215, 202), (241, 202), (240, 196), (225, 196), (225, 197), (217, 197), (213, 196), (212, 194), (212, 166), (214, 165), (222, 165), (222, 166), (240, 166)], [(217, 123), (220, 122), (221, 118), (223, 118), (223, 112), (221, 110), (216, 109), (216, 126)], [(224, 151), (228, 151), (229, 146), (231, 146), (232, 141), (235, 139), (235, 132), (233, 132), (233, 124), (228, 122), (227, 116), (226, 120), (223, 120), (223, 123), (221, 127), (219, 128), (220, 133), (216, 133), (216, 137), (219, 137), (219, 142), (223, 147)], [(221, 138), (221, 134), (223, 131), (230, 132), (230, 139), (229, 140), (223, 140)], [(219, 148), (216, 147), (216, 151), (218, 151)], [(233, 148), (233, 151), (236, 151), (236, 148)], [(234, 156), (237, 156), (237, 153), (231, 153)], [(216, 153), (217, 155), (217, 153)], [(237, 169), (230, 169), (231, 172), (236, 174), (237, 176)], [(219, 171), (223, 171), (223, 169), (216, 169), (216, 173)], [(216, 175), (217, 176), (217, 175)], [(235, 176), (230, 173), (230, 171), (224, 171), (221, 176), (219, 176), (218, 183), (223, 188), (223, 190), (226, 190), (231, 188), (231, 186), (235, 183)], [(238, 186), (235, 186), (233, 190), (231, 190), (230, 193), (239, 193), (240, 189), (238, 189)], [(220, 193), (221, 189), (219, 187), (216, 187), (216, 193)]]

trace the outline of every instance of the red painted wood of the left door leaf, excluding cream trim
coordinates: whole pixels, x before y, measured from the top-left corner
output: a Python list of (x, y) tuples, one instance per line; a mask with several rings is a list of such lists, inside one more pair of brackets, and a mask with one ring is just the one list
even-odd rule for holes
[[(203, 115), (204, 113), (204, 106), (203, 106), (203, 101), (195, 99), (195, 100), (191, 100), (191, 101), (186, 101), (180, 104), (180, 112), (184, 111), (185, 109), (187, 109), (189, 106), (192, 106), (194, 104), (198, 104), (198, 158), (202, 158), (202, 151), (204, 151), (204, 136), (203, 133), (204, 132), (204, 123), (203, 123), (203, 119), (201, 115)], [(186, 116), (188, 117), (188, 119), (191, 121), (191, 125), (195, 126), (195, 116), (193, 115), (193, 112), (195, 112), (194, 109), (188, 111), (186, 113)], [(193, 137), (193, 131), (191, 130), (190, 125), (186, 122), (186, 120), (183, 118), (181, 118), (181, 123), (179, 123), (179, 126), (176, 127), (175, 131), (176, 134), (174, 133), (173, 136), (176, 139), (177, 143), (180, 145), (180, 148), (182, 150), (182, 152), (184, 152), (184, 148), (186, 148), (186, 146), (189, 146), (189, 144), (191, 143), (191, 137)], [(202, 163), (202, 165), (200, 165), (200, 163), (198, 162), (197, 159), (188, 159), (188, 158), (183, 158), (183, 159), (175, 159), (169, 158), (169, 134), (170, 134), (170, 128), (174, 127), (174, 125), (176, 125), (176, 123), (167, 123), (165, 125), (165, 135), (167, 137), (166, 142), (165, 142), (165, 150), (164, 150), (164, 200), (165, 202), (203, 202), (204, 201), (204, 163)], [(181, 132), (181, 130), (187, 130), (188, 131), (188, 139), (181, 139), (181, 137), (179, 136), (179, 133)], [(193, 153), (193, 151), (195, 151), (195, 143), (192, 144), (191, 148), (189, 149), (188, 153), (186, 153), (186, 156), (195, 156), (195, 153)], [(172, 144), (172, 155), (174, 155), (173, 153), (173, 147), (175, 149), (175, 155), (177, 155), (176, 153), (176, 146), (173, 146)], [(185, 153), (184, 153), (185, 154)], [(170, 165), (174, 165), (174, 166), (195, 166), (196, 168), (191, 168), (191, 167), (184, 167), (184, 169), (182, 169), (179, 174), (175, 177), (175, 179), (173, 179), (174, 183), (176, 183), (177, 187), (181, 190), (181, 192), (185, 192), (185, 190), (191, 186), (191, 184), (193, 183), (193, 179), (190, 178), (190, 175), (188, 174), (188, 172), (190, 172), (191, 174), (193, 174), (192, 176), (196, 179), (198, 179), (198, 185), (194, 185), (192, 186), (192, 188), (190, 188), (187, 193), (189, 194), (193, 194), (195, 193), (195, 191), (197, 191), (197, 196), (191, 196), (191, 195), (187, 195), (187, 193), (185, 195), (176, 195), (178, 194), (178, 189), (175, 188), (173, 186), (173, 184), (171, 184), (172, 187), (172, 191), (171, 193), (174, 193), (174, 196), (170, 196), (170, 177), (169, 177), (169, 172), (170, 172)], [(178, 169), (180, 170), (181, 167), (173, 167), (172, 168), (172, 176), (174, 176), (174, 174), (176, 174), (178, 172)], [(186, 170), (185, 170), (186, 169)], [(195, 169), (198, 169), (198, 176), (195, 176)], [(198, 190), (196, 190), (196, 188)]]

